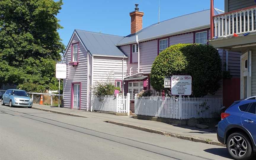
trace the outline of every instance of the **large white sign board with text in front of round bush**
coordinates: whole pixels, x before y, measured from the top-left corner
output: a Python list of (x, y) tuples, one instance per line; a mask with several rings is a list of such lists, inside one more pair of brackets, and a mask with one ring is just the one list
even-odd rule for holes
[(188, 75), (173, 75), (171, 77), (172, 95), (191, 95), (192, 77)]

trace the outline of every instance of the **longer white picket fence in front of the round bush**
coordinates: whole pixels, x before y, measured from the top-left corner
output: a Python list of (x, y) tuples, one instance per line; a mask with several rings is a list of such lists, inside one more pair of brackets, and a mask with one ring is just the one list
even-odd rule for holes
[(137, 97), (135, 115), (185, 120), (216, 118), (222, 107), (222, 97)]

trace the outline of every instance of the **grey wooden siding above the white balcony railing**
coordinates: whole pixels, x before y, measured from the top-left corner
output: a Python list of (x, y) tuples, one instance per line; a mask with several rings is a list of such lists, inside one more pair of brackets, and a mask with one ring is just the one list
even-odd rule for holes
[(225, 0), (225, 12), (256, 5), (255, 0)]

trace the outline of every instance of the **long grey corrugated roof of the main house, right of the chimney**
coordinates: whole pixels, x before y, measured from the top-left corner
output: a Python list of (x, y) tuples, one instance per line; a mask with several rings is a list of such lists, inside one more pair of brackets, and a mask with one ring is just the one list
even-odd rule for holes
[[(215, 9), (215, 15), (222, 13), (224, 12), (219, 9)], [(207, 25), (210, 25), (210, 9), (186, 14), (153, 24), (140, 30), (136, 34), (124, 37), (124, 39), (118, 42), (117, 45), (135, 43), (136, 35), (138, 35), (139, 41), (143, 41), (172, 33), (175, 34), (189, 29), (192, 30), (193, 28), (204, 27)]]

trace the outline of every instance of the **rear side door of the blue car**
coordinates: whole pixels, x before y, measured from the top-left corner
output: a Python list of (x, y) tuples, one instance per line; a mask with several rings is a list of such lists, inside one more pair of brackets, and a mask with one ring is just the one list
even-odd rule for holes
[(242, 125), (251, 133), (256, 143), (256, 103), (252, 103), (241, 117)]

